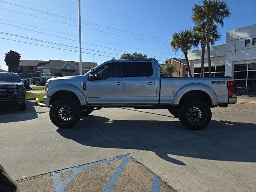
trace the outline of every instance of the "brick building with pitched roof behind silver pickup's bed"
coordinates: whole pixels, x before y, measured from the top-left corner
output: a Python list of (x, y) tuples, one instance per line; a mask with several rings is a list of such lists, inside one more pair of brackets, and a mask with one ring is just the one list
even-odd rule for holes
[[(179, 77), (179, 72), (180, 72), (180, 77), (188, 76), (188, 66), (187, 66), (186, 59), (181, 59), (181, 63), (180, 63), (180, 59), (170, 58), (167, 60), (167, 64), (174, 64), (178, 70), (178, 72), (175, 72), (172, 74), (173, 77)], [(163, 68), (164, 66), (166, 66), (166, 64), (160, 64), (160, 68)], [(161, 76), (166, 77), (167, 75), (161, 73)]]

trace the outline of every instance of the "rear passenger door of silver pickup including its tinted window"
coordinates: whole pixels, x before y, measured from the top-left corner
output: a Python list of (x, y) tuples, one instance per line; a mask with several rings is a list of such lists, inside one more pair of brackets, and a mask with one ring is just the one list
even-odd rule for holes
[(155, 105), (157, 78), (152, 62), (123, 63), (125, 76), (125, 104)]

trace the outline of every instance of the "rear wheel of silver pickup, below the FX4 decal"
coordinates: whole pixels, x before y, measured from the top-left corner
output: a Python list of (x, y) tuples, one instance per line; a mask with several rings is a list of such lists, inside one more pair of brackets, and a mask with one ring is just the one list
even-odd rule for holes
[(208, 126), (212, 118), (210, 107), (200, 100), (184, 103), (179, 110), (180, 122), (190, 130), (201, 130)]

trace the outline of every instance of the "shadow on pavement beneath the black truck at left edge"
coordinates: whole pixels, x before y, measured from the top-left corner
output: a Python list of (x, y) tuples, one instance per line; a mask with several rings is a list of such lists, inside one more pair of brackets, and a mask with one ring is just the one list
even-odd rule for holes
[(19, 122), (38, 118), (34, 106), (36, 106), (35, 102), (27, 101), (27, 110), (20, 110), (19, 106), (0, 107), (0, 123)]

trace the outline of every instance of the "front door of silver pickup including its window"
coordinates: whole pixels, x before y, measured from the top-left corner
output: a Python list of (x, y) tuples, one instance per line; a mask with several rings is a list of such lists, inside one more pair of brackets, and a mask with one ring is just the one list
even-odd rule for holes
[(107, 63), (95, 70), (96, 80), (86, 80), (88, 104), (124, 104), (124, 80), (122, 63)]

